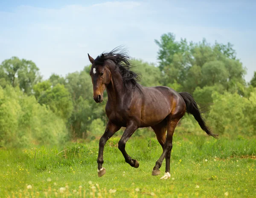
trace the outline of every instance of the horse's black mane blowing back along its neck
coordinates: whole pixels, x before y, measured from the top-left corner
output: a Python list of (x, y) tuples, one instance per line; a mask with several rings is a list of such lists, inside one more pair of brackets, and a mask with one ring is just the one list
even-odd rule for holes
[(140, 84), (138, 83), (140, 81), (140, 75), (130, 70), (133, 67), (130, 58), (124, 49), (117, 47), (111, 52), (102, 53), (102, 55), (94, 60), (94, 63), (96, 65), (104, 65), (105, 60), (112, 60), (116, 64), (116, 68), (120, 69), (125, 88), (140, 88)]

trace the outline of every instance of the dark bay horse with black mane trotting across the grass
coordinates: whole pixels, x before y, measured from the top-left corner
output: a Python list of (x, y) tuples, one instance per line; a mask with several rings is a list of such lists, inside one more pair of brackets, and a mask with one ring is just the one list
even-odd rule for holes
[[(151, 127), (163, 148), (163, 153), (156, 161), (151, 175), (160, 175), (160, 167), (165, 158), (166, 169), (161, 179), (170, 178), (170, 158), (172, 136), (175, 127), (185, 112), (192, 114), (198, 124), (208, 135), (217, 138), (207, 127), (201, 112), (192, 95), (188, 92), (176, 92), (166, 86), (146, 87), (138, 81), (140, 75), (131, 71), (131, 57), (120, 48), (102, 53), (96, 59), (88, 54), (90, 76), (93, 83), (93, 99), (96, 103), (103, 101), (103, 92), (107, 89), (108, 101), (105, 106), (108, 123), (99, 140), (98, 177), (105, 175), (102, 167), (105, 143), (121, 127), (126, 127), (118, 142), (118, 148), (125, 162), (134, 168), (139, 162), (131, 158), (125, 151), (125, 144), (133, 133), (141, 127)], [(167, 133), (166, 133), (167, 130)]]

